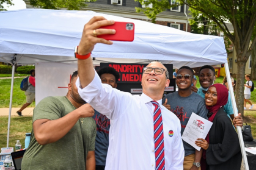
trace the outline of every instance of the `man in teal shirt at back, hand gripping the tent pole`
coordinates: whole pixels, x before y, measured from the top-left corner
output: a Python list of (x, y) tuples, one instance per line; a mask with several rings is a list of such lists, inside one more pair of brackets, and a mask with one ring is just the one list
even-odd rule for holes
[[(200, 88), (197, 89), (196, 87), (192, 86), (191, 90), (199, 94), (203, 99), (205, 98), (205, 93), (207, 93), (208, 88), (213, 85), (215, 77), (215, 69), (213, 66), (205, 65), (202, 66), (199, 70), (199, 83)], [(233, 120), (233, 125), (236, 126), (243, 126), (243, 119), (241, 118), (241, 113), (238, 113), (238, 116), (234, 118), (232, 101), (230, 94), (228, 96), (227, 104), (224, 105), (225, 113)]]

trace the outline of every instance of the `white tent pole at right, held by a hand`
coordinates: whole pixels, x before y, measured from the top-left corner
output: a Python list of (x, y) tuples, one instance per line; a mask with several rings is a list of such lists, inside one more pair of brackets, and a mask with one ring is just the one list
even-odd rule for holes
[[(236, 101), (235, 101), (235, 96), (234, 96), (234, 93), (233, 93), (233, 86), (232, 86), (232, 82), (231, 82), (231, 77), (230, 77), (230, 72), (229, 72), (229, 64), (228, 63), (225, 63), (225, 72), (226, 72), (226, 76), (227, 76), (227, 84), (229, 85), (229, 93), (230, 93), (230, 97), (231, 97), (231, 101), (232, 101), (234, 116), (238, 116)], [(245, 165), (244, 168), (246, 170), (249, 170), (248, 161), (247, 161), (247, 157), (246, 157), (246, 151), (244, 149), (244, 140), (243, 140), (241, 127), (236, 126), (236, 129), (237, 129), (237, 132), (238, 132), (238, 138), (239, 138), (239, 141), (240, 141), (241, 152), (242, 152), (242, 155), (243, 155), (243, 160), (244, 160), (244, 165)]]

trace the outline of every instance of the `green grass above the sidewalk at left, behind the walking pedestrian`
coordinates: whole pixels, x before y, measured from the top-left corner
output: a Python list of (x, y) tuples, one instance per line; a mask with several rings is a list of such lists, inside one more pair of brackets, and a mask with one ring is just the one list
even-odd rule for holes
[[(20, 90), (20, 83), (23, 78), (14, 79), (12, 107), (21, 107), (26, 103), (24, 91)], [(0, 79), (0, 108), (9, 107), (10, 103), (10, 85), (12, 79)], [(35, 107), (35, 102), (32, 102), (29, 107)]]

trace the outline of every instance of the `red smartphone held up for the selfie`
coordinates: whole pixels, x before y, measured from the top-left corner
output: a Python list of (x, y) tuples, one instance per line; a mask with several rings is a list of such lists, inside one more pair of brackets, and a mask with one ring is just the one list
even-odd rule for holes
[(134, 23), (115, 22), (111, 26), (100, 27), (103, 29), (115, 29), (115, 34), (97, 35), (98, 38), (113, 41), (133, 41)]

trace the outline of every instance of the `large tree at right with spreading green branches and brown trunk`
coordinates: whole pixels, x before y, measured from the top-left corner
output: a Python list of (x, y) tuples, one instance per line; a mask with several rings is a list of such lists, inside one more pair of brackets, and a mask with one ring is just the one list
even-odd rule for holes
[[(153, 4), (153, 9), (155, 8), (154, 1), (147, 1)], [(216, 23), (224, 35), (234, 44), (238, 65), (235, 98), (238, 110), (243, 116), (245, 67), (256, 43), (255, 37), (251, 41), (256, 23), (256, 0), (179, 0), (179, 2), (202, 12), (203, 15)], [(225, 24), (227, 22), (232, 23), (233, 33)]]

